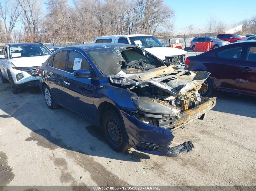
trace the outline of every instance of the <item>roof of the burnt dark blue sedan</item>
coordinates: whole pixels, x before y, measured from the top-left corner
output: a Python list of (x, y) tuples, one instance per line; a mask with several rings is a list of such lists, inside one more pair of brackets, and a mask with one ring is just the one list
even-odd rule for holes
[(93, 44), (81, 44), (81, 45), (74, 45), (68, 46), (64, 49), (70, 49), (71, 47), (74, 48), (81, 48), (84, 50), (91, 50), (91, 49), (99, 49), (99, 48), (110, 48), (110, 47), (118, 47), (118, 46), (127, 46), (127, 47), (137, 47), (130, 44), (122, 44), (122, 43), (93, 43)]

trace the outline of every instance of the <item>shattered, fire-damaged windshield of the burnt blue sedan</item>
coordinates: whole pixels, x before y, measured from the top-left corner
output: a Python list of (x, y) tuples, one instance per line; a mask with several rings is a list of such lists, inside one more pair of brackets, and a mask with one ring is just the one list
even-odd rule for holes
[(104, 75), (128, 74), (165, 66), (155, 56), (137, 47), (116, 46), (92, 49), (89, 56)]

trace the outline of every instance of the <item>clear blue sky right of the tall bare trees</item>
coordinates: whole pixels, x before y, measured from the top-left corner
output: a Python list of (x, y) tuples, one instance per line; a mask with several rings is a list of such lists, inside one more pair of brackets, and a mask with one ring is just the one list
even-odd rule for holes
[(207, 19), (213, 15), (225, 24), (233, 25), (256, 15), (256, 0), (164, 0), (175, 10), (175, 31), (193, 25), (204, 29)]

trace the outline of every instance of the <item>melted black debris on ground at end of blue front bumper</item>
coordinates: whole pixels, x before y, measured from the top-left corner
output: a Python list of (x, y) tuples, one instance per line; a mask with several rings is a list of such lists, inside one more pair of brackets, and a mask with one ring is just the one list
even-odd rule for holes
[(188, 153), (194, 148), (194, 145), (191, 141), (184, 142), (176, 147), (167, 147), (167, 155), (169, 157), (177, 157), (180, 153)]

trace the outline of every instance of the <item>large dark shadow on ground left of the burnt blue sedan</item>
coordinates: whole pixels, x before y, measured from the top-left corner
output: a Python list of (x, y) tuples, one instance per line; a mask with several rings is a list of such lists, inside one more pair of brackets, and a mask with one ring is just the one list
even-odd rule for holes
[[(38, 87), (24, 88), (21, 94), (13, 94), (9, 84), (0, 82), (0, 109), (6, 114), (1, 118), (17, 119), (32, 132), (26, 141), (55, 150), (64, 148), (90, 156), (120, 161), (149, 159), (145, 153), (130, 149), (123, 153), (113, 151), (105, 142), (101, 129), (89, 119), (65, 108), (50, 110)], [(11, 128), (11, 127), (8, 127)]]

